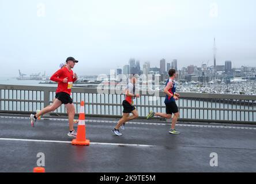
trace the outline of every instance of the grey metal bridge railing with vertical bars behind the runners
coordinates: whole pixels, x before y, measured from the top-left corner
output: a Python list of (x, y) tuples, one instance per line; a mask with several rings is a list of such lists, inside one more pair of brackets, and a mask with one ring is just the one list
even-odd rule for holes
[[(29, 114), (52, 104), (56, 87), (0, 85), (0, 113)], [(76, 112), (80, 102), (85, 101), (86, 116), (122, 116), (122, 101), (125, 95), (98, 94), (97, 89), (74, 87), (72, 98)], [(165, 112), (163, 92), (159, 97), (152, 91), (140, 91), (141, 97), (134, 100), (134, 105), (141, 118), (150, 110)], [(180, 93), (179, 121), (228, 122), (255, 124), (256, 95)], [(66, 113), (62, 105), (53, 113)]]

